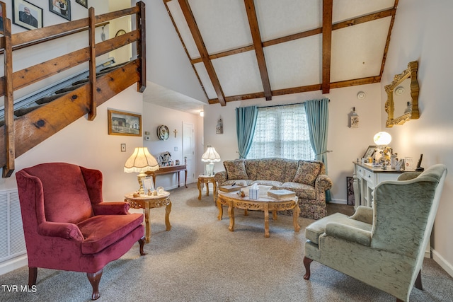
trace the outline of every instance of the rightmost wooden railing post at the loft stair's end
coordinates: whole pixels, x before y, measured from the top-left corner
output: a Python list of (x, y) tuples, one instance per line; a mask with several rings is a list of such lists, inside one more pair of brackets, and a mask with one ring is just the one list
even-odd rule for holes
[(140, 81), (137, 83), (137, 91), (143, 92), (147, 88), (147, 24), (145, 22), (145, 5), (143, 1), (137, 2), (139, 12), (137, 13), (137, 30), (140, 38), (137, 41), (137, 54), (140, 59)]

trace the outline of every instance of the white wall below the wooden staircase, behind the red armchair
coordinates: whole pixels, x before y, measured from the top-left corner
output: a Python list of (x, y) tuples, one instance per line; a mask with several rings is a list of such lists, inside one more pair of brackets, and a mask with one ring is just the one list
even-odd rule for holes
[[(15, 172), (38, 163), (67, 162), (103, 173), (103, 195), (105, 201), (120, 201), (124, 194), (137, 187), (137, 175), (124, 173), (123, 166), (134, 151), (142, 146), (142, 137), (108, 135), (107, 110), (115, 109), (142, 114), (142, 94), (136, 85), (111, 98), (98, 107), (96, 119), (88, 121), (86, 116), (46, 139), (35, 148), (16, 158)], [(121, 152), (120, 146), (127, 146)], [(62, 184), (71, 185), (71, 184)], [(16, 188), (15, 173), (11, 178), (0, 179), (0, 190)]]

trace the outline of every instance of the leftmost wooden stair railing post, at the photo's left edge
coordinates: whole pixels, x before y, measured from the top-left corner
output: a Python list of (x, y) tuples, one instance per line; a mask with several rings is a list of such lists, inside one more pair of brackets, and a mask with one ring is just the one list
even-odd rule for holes
[(4, 45), (5, 45), (5, 146), (6, 164), (3, 167), (2, 176), (8, 178), (14, 171), (16, 159), (14, 146), (14, 98), (13, 98), (13, 46), (11, 42), (11, 20), (4, 18)]

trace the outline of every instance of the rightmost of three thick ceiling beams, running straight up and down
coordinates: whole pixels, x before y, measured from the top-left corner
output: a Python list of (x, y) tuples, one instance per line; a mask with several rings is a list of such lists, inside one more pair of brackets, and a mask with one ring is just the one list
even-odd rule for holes
[(332, 10), (333, 0), (323, 0), (323, 93), (331, 91)]

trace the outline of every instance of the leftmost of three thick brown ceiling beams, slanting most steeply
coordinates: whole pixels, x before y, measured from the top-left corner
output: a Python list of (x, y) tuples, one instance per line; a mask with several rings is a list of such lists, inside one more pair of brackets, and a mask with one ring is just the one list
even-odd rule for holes
[(197, 45), (198, 52), (200, 52), (202, 62), (203, 64), (205, 64), (207, 74), (208, 76), (210, 76), (210, 80), (212, 86), (214, 87), (214, 91), (217, 94), (217, 98), (219, 99), (219, 103), (220, 105), (224, 106), (226, 105), (226, 102), (224, 93), (222, 91), (222, 86), (220, 86), (220, 82), (217, 78), (217, 74), (215, 73), (214, 66), (212, 66), (212, 62), (205, 47), (205, 42), (203, 42), (200, 30), (198, 29), (197, 22), (195, 21), (195, 17), (193, 16), (192, 10), (190, 9), (188, 0), (178, 0), (178, 3), (181, 11), (183, 11), (183, 15), (185, 21), (189, 26), (190, 33), (192, 33), (195, 45)]

